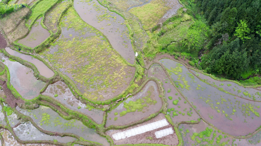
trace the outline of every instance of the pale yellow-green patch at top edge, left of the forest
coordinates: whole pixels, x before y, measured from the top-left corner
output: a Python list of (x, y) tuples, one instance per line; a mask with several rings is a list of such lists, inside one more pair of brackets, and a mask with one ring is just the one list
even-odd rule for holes
[(155, 26), (169, 9), (166, 0), (152, 0), (141, 7), (130, 9), (129, 12), (137, 16), (142, 21), (143, 28), (147, 30)]

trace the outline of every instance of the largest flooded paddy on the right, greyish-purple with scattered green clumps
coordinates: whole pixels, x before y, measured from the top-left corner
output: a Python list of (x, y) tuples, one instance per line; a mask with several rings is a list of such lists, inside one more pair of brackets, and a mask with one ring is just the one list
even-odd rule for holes
[[(162, 59), (160, 62), (169, 70), (180, 66), (178, 62), (170, 59)], [(260, 122), (258, 122), (261, 120), (260, 102), (249, 101), (219, 91), (200, 81), (184, 65), (180, 68), (181, 72), (171, 73), (170, 76), (179, 86), (178, 90), (207, 122), (233, 136), (245, 136), (260, 127)]]

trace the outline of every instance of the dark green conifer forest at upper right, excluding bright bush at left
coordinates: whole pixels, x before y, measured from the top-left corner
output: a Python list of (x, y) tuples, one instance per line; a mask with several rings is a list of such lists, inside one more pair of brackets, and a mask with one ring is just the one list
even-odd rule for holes
[(210, 25), (211, 33), (203, 47), (211, 51), (202, 58), (203, 69), (234, 79), (241, 79), (247, 70), (261, 70), (260, 0), (195, 0), (193, 3), (198, 13), (195, 15), (202, 15)]

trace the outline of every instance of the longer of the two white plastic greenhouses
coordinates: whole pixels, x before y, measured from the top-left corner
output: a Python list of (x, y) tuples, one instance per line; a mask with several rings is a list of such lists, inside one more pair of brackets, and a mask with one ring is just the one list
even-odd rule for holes
[(138, 135), (138, 134), (142, 134), (142, 133), (145, 133), (147, 131), (151, 131), (151, 130), (154, 130), (154, 129), (157, 129), (157, 128), (161, 128), (161, 127), (164, 127), (164, 126), (167, 126), (167, 125), (168, 125), (168, 123), (167, 123), (166, 119), (162, 119), (160, 121), (156, 121), (156, 122), (152, 122), (152, 123), (149, 123), (149, 124), (146, 124), (146, 125), (142, 125), (142, 126), (137, 127), (137, 128), (132, 128), (132, 129), (129, 129), (129, 130), (126, 130), (126, 131), (115, 133), (115, 134), (112, 135), (112, 137), (115, 140), (120, 140), (120, 139), (128, 138), (128, 137), (131, 137), (131, 136), (135, 136), (135, 135)]

